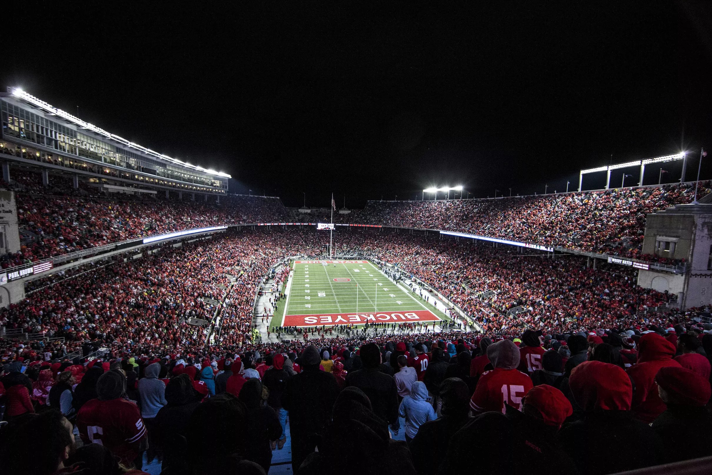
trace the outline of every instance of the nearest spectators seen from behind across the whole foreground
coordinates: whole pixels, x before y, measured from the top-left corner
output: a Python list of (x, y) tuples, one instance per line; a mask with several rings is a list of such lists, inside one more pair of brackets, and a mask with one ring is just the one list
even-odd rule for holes
[(12, 353), (0, 455), (10, 473), (140, 475), (158, 459), (167, 475), (266, 474), (288, 424), (295, 474), (603, 475), (686, 461), (712, 455), (712, 329), (677, 321)]

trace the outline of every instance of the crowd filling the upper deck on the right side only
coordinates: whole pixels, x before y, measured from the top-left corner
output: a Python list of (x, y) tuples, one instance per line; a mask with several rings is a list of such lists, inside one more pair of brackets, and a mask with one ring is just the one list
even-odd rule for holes
[[(701, 183), (698, 196), (709, 192), (710, 183)], [(358, 219), (642, 258), (646, 214), (690, 203), (693, 195), (694, 186), (685, 184), (534, 197), (372, 201)]]

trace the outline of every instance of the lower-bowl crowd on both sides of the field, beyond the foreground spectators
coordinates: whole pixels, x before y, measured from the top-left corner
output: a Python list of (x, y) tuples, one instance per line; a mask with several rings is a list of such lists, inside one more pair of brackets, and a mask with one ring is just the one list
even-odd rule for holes
[[(226, 298), (218, 344), (239, 346), (251, 339), (256, 286), (268, 268), (286, 256), (320, 254), (325, 239), (324, 233), (311, 229), (273, 229), (231, 232), (179, 249), (159, 248), (144, 259), (114, 263), (42, 288), (1, 310), (0, 323), (26, 333), (64, 337), (70, 349), (95, 338), (123, 349), (199, 348), (204, 333), (184, 323), (185, 318), (210, 321), (214, 308), (199, 299)], [(340, 252), (396, 263), (405, 273), (419, 276), (492, 336), (524, 327), (556, 333), (640, 323), (637, 312), (666, 301), (664, 294), (637, 287), (629, 269), (594, 270), (577, 256), (520, 256), (471, 240), (386, 229), (337, 231), (334, 242)], [(229, 276), (238, 276), (232, 287)], [(42, 280), (34, 288), (41, 286)], [(496, 297), (483, 298), (485, 291), (495, 291)], [(514, 307), (525, 311), (510, 315)]]

